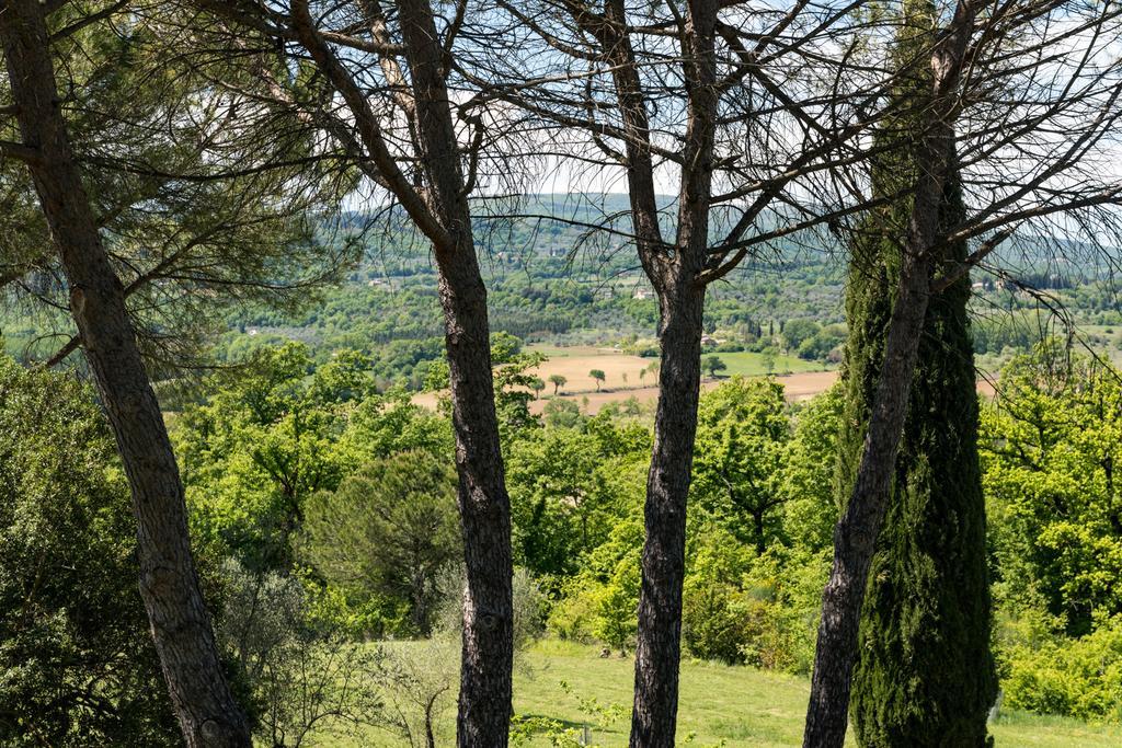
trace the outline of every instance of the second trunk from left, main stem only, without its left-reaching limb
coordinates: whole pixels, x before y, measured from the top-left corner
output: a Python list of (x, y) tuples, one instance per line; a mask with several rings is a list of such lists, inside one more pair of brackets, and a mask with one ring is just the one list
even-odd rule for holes
[(435, 247), (451, 371), (467, 589), (457, 744), (502, 748), (511, 722), (514, 666), (511, 499), (499, 449), (491, 377), (487, 289), (471, 233), (444, 54), (427, 0), (399, 0), (402, 39), (413, 75), (430, 207), (451, 237)]

